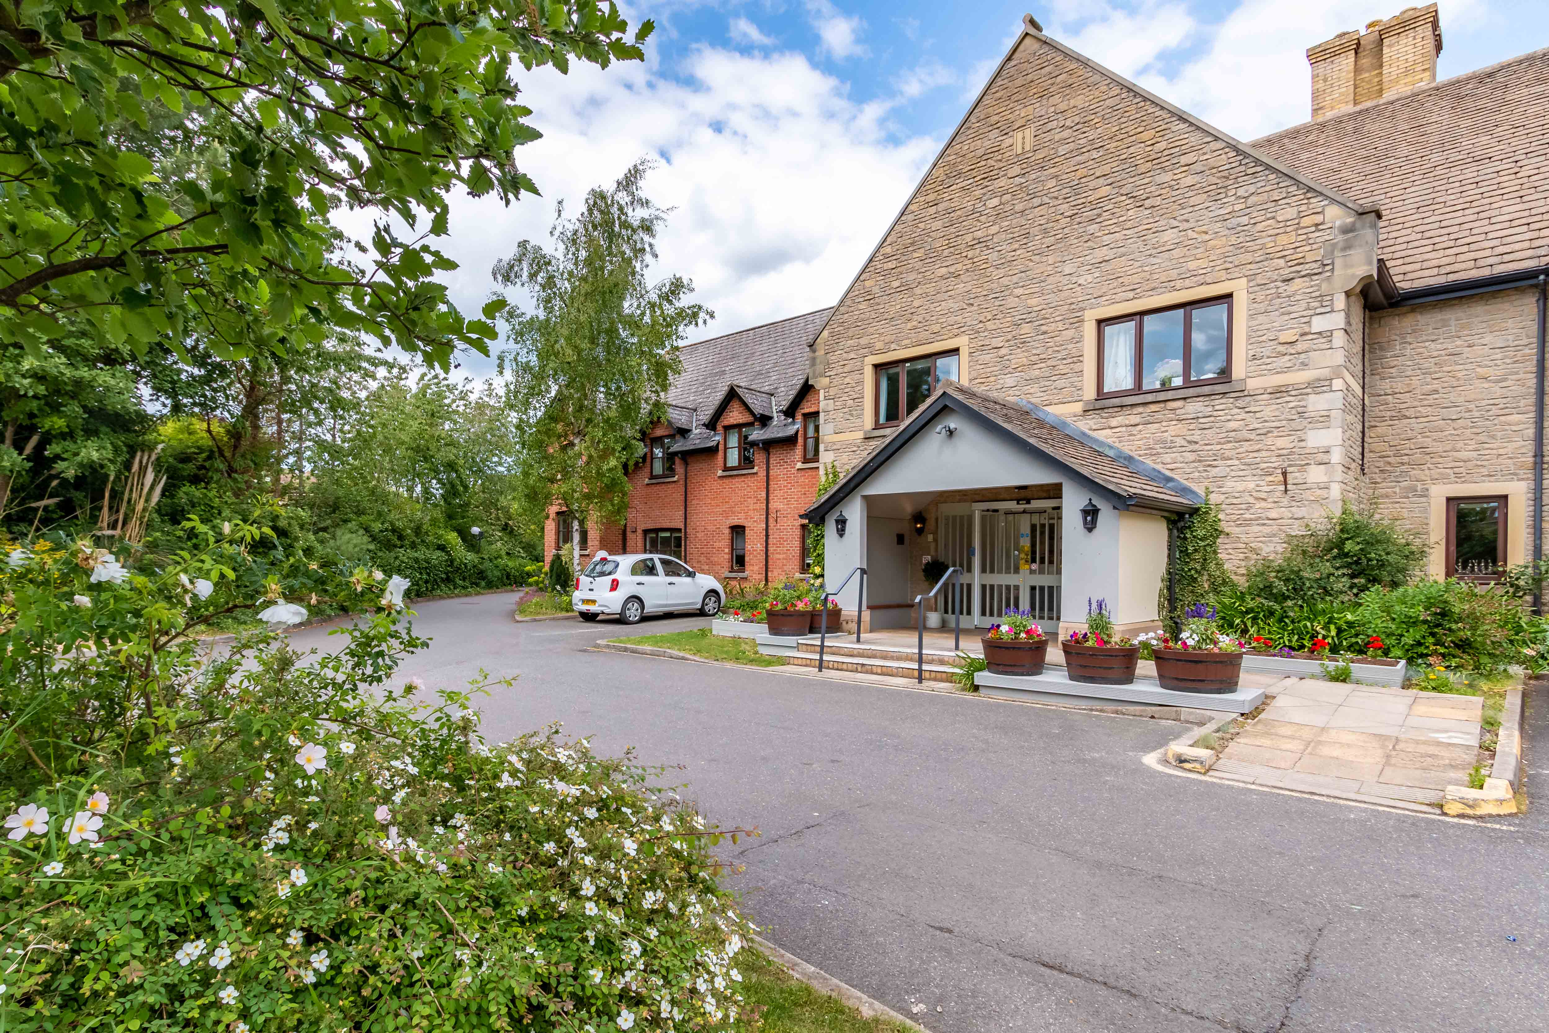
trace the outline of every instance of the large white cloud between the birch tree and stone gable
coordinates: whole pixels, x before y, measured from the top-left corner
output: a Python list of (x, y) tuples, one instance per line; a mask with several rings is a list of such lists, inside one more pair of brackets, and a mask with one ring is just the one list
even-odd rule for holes
[[(459, 308), (477, 313), (493, 290), (489, 266), (519, 240), (547, 240), (555, 201), (579, 211), (587, 189), (644, 155), (658, 161), (649, 195), (675, 209), (658, 274), (692, 279), (694, 299), (717, 316), (691, 339), (838, 300), (939, 141), (898, 139), (884, 122), (892, 101), (849, 99), (846, 82), (802, 54), (700, 46), (674, 71), (630, 62), (522, 79), (544, 139), (520, 147), (517, 163), (545, 197), (510, 208), (452, 200), (441, 246), (460, 268), (441, 282)], [(472, 358), (468, 369), (489, 364)]]

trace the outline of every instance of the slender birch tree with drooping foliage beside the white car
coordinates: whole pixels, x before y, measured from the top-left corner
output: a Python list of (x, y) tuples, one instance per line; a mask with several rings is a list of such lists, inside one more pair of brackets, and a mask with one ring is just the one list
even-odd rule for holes
[[(641, 189), (651, 167), (637, 161), (613, 189), (593, 187), (579, 218), (567, 221), (559, 206), (551, 252), (524, 240), (494, 266), (497, 283), (533, 297), (533, 311), (502, 314), (510, 406), (531, 414), (519, 440), (524, 496), (541, 510), (561, 502), (573, 531), (587, 517), (617, 523), (629, 513), (627, 469), (665, 412), (661, 400), (682, 369), (677, 344), (714, 317), (686, 300), (691, 280), (646, 280), (666, 221)], [(578, 567), (579, 534), (570, 539)]]

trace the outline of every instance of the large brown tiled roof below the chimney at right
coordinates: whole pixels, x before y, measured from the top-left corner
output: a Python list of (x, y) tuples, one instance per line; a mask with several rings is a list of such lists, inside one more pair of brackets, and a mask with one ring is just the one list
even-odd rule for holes
[(1400, 290), (1549, 262), (1549, 48), (1253, 141), (1382, 209)]

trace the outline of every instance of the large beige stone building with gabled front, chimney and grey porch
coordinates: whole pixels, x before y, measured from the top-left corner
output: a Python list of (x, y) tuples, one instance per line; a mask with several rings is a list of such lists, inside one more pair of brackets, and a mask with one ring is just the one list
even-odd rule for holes
[(965, 623), (1148, 626), (1204, 492), (1235, 567), (1368, 499), (1437, 576), (1540, 556), (1549, 50), (1441, 46), (1436, 5), (1320, 43), (1312, 119), (1242, 142), (1024, 19), (810, 348), (846, 609), (939, 558)]

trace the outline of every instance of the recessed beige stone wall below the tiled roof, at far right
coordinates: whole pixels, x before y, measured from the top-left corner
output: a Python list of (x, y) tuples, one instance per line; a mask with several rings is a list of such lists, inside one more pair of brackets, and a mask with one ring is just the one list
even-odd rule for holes
[[(1534, 479), (1534, 288), (1372, 313), (1368, 462), (1382, 510), (1417, 534), (1430, 486)], [(1532, 491), (1523, 514), (1532, 548)]]

